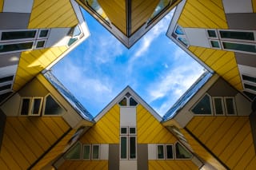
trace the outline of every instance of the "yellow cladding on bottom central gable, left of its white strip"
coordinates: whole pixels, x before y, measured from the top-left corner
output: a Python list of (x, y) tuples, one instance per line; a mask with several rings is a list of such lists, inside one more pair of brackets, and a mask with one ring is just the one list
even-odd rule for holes
[(120, 109), (114, 105), (80, 139), (82, 144), (119, 144)]

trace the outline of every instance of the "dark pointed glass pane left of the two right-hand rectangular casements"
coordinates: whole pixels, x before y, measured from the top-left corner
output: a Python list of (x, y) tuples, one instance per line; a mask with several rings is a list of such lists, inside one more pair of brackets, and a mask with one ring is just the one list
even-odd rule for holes
[(192, 109), (194, 114), (211, 114), (210, 109), (210, 97), (208, 95), (204, 96), (201, 101)]

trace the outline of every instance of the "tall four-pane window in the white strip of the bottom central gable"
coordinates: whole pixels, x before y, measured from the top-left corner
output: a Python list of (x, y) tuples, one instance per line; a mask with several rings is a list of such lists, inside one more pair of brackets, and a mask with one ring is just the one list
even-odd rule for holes
[[(129, 129), (129, 130), (128, 130)], [(134, 160), (137, 155), (135, 127), (121, 127), (120, 130), (120, 159)]]

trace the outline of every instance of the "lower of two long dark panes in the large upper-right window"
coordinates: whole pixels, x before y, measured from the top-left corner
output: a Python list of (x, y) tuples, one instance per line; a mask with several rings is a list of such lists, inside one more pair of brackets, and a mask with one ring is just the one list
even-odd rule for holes
[(255, 45), (248, 44), (237, 44), (232, 42), (222, 42), (224, 49), (233, 49), (238, 51), (246, 51), (251, 53), (256, 53)]

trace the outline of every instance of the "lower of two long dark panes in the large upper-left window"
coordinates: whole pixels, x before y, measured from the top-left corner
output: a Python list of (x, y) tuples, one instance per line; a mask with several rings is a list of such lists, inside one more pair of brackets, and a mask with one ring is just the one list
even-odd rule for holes
[(17, 44), (6, 44), (0, 45), (0, 53), (9, 52), (9, 51), (18, 51), (23, 49), (31, 49), (33, 42), (21, 42)]

